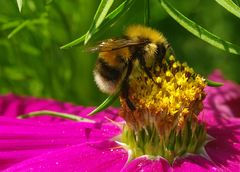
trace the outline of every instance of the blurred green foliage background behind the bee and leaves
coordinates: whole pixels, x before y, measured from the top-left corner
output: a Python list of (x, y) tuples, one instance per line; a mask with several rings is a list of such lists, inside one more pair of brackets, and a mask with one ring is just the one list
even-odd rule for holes
[[(92, 75), (97, 54), (89, 54), (82, 45), (60, 50), (86, 33), (99, 2), (25, 0), (20, 13), (16, 0), (0, 1), (0, 94), (49, 97), (81, 105), (101, 103), (106, 95), (100, 93)], [(240, 45), (240, 20), (215, 1), (170, 2), (199, 25)], [(137, 0), (90, 42), (121, 36), (128, 25), (142, 24), (143, 4), (143, 0)], [(177, 58), (198, 73), (207, 76), (214, 69), (221, 69), (226, 78), (240, 82), (239, 55), (193, 36), (169, 17), (157, 0), (150, 0), (149, 22), (168, 38)], [(21, 24), (18, 32), (12, 32)]]

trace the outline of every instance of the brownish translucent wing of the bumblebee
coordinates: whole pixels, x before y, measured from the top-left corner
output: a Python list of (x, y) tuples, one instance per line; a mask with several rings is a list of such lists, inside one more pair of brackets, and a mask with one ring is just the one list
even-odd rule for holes
[(94, 47), (91, 47), (89, 51), (95, 52), (95, 51), (112, 51), (117, 50), (124, 47), (134, 46), (134, 45), (140, 45), (144, 44), (144, 41), (135, 41), (130, 39), (107, 39), (105, 41), (100, 42)]

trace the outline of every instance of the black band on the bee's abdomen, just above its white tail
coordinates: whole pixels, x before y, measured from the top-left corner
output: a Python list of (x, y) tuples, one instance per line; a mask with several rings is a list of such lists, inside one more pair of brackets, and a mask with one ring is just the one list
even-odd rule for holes
[(106, 80), (117, 81), (121, 78), (122, 70), (110, 66), (102, 58), (98, 59), (96, 68)]

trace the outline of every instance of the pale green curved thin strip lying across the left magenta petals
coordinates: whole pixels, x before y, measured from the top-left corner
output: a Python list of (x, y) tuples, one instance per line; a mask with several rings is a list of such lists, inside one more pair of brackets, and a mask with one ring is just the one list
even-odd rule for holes
[(69, 120), (73, 120), (73, 121), (94, 122), (90, 119), (83, 118), (83, 117), (80, 117), (77, 115), (68, 114), (68, 113), (60, 113), (60, 112), (55, 112), (55, 111), (48, 111), (48, 110), (30, 112), (28, 114), (18, 116), (18, 118), (24, 119), (24, 118), (30, 118), (30, 117), (36, 117), (36, 116), (54, 116), (54, 117), (60, 117), (60, 118), (69, 119)]

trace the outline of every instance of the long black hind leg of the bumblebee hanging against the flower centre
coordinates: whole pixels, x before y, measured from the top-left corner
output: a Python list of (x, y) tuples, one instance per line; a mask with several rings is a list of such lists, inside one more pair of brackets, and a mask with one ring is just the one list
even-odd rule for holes
[(123, 82), (122, 82), (122, 97), (125, 99), (128, 107), (134, 111), (136, 108), (134, 106), (134, 104), (131, 102), (131, 100), (129, 99), (129, 95), (128, 95), (128, 90), (129, 90), (129, 84), (128, 84), (128, 78), (132, 72), (132, 63), (130, 62), (128, 64), (128, 68), (127, 68), (127, 73), (126, 73), (126, 76), (125, 78), (123, 79)]

